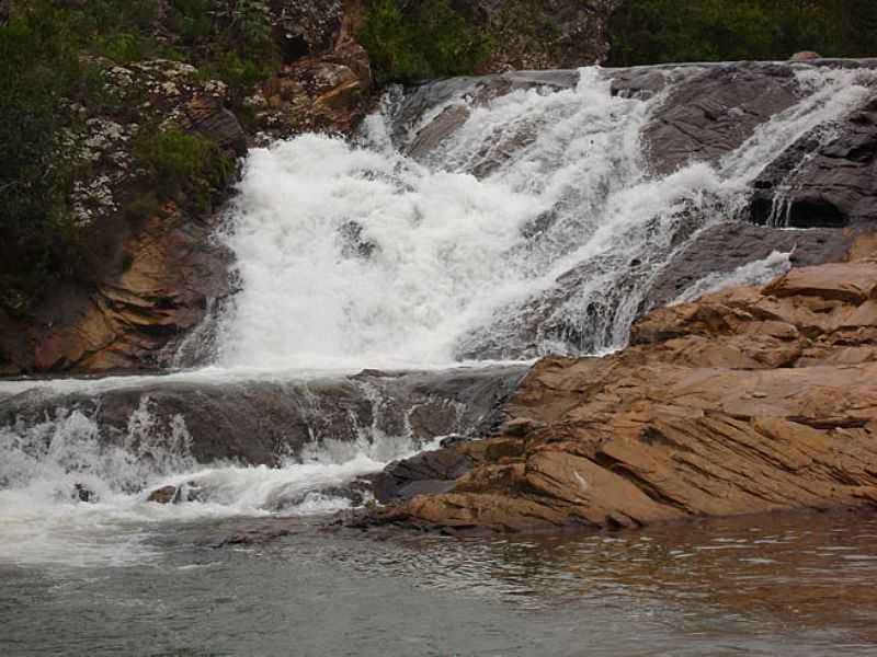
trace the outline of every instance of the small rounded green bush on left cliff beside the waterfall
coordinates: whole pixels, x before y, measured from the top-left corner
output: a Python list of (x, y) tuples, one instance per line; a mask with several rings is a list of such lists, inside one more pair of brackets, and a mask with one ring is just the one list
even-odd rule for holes
[(198, 209), (209, 206), (210, 195), (225, 186), (234, 168), (214, 141), (174, 128), (141, 128), (133, 152), (151, 174), (160, 199)]

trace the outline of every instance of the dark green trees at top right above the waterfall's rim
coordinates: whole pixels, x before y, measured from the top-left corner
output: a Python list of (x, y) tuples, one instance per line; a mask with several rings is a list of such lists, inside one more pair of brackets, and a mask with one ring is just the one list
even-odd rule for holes
[(610, 21), (613, 66), (877, 54), (873, 0), (625, 0)]

